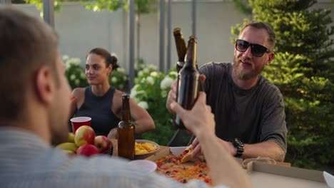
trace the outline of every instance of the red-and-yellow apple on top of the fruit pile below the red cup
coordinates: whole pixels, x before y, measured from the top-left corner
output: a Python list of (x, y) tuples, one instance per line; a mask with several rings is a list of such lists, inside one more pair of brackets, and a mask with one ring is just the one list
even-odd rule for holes
[(74, 135), (74, 143), (76, 146), (80, 147), (81, 145), (94, 144), (95, 132), (92, 127), (88, 125), (82, 125), (76, 130)]

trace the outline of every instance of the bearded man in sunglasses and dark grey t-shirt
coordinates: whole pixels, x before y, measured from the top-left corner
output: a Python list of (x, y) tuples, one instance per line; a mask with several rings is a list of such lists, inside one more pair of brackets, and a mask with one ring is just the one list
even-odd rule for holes
[[(235, 157), (270, 157), (277, 161), (285, 158), (288, 130), (283, 96), (261, 75), (273, 61), (274, 46), (272, 28), (253, 21), (236, 40), (233, 63), (207, 63), (200, 68), (207, 103), (215, 114), (216, 135)], [(168, 103), (175, 100), (175, 91), (176, 83), (166, 103), (171, 112)], [(193, 157), (200, 151), (195, 139)]]

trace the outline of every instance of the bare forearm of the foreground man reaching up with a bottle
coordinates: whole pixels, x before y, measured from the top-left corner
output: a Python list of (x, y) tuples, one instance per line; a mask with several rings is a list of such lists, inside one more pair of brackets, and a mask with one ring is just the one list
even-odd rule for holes
[(206, 131), (198, 135), (203, 155), (211, 172), (213, 185), (225, 184), (228, 187), (250, 187), (246, 172), (222, 147), (216, 135)]

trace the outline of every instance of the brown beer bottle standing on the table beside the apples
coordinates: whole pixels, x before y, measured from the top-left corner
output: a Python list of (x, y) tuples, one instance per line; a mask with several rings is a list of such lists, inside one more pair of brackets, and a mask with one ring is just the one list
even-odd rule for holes
[(135, 126), (131, 122), (130, 96), (122, 95), (123, 108), (122, 120), (118, 123), (118, 156), (128, 160), (134, 160), (135, 157)]

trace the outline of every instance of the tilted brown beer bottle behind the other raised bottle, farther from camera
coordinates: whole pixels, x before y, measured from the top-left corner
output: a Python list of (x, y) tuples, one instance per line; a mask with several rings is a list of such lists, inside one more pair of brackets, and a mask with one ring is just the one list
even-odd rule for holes
[(175, 38), (176, 51), (178, 52), (178, 62), (176, 63), (176, 70), (180, 72), (184, 65), (184, 58), (187, 53), (186, 41), (184, 41), (181, 33), (181, 28), (174, 28), (173, 34)]

